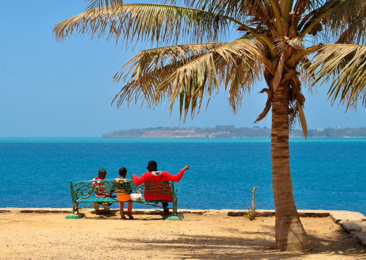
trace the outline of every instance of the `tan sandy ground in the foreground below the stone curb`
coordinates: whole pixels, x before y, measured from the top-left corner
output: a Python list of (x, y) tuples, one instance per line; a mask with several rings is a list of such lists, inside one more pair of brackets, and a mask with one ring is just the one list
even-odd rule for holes
[(159, 215), (118, 218), (88, 212), (0, 213), (0, 259), (366, 259), (366, 248), (330, 217), (301, 221), (310, 253), (275, 248), (274, 217), (185, 214), (167, 221)]

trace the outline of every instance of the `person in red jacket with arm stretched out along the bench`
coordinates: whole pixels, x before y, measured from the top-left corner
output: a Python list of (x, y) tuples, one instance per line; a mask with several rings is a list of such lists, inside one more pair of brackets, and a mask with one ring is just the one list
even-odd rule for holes
[[(187, 164), (184, 166), (177, 175), (170, 174), (167, 171), (160, 171), (157, 170), (157, 163), (154, 160), (150, 160), (147, 162), (146, 169), (148, 172), (145, 172), (142, 174), (141, 177), (137, 177), (136, 174), (132, 175), (133, 183), (135, 183), (136, 186), (146, 182), (147, 180), (150, 180), (151, 182), (157, 183), (158, 181), (176, 181), (178, 182), (183, 175), (185, 174), (185, 170), (190, 169), (191, 165)], [(159, 183), (162, 184), (162, 183)], [(162, 184), (163, 185), (163, 184)], [(170, 186), (168, 186), (168, 189), (170, 189)], [(148, 188), (148, 186), (147, 186)], [(146, 190), (146, 187), (145, 187)], [(144, 198), (145, 200), (173, 200), (172, 196), (168, 194), (149, 194), (149, 192), (145, 192), (144, 190)], [(168, 203), (162, 202), (162, 206), (164, 207), (164, 212), (168, 212), (169, 209), (167, 208)]]

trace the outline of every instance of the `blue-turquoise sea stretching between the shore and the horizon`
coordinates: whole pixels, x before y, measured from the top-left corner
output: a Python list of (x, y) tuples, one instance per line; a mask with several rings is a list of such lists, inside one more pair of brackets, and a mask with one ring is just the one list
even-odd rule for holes
[[(366, 214), (365, 151), (366, 138), (290, 139), (297, 208)], [(71, 207), (70, 180), (99, 168), (113, 179), (121, 166), (140, 176), (149, 160), (173, 174), (192, 165), (176, 183), (178, 208), (246, 209), (258, 186), (257, 208), (274, 209), (269, 138), (0, 138), (0, 207)]]

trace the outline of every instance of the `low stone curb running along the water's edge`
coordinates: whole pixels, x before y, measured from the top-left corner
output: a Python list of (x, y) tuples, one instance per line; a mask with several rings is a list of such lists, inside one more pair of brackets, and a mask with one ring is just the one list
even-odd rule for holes
[[(95, 211), (94, 209), (82, 209), (81, 212)], [(102, 211), (102, 210), (101, 210)], [(112, 209), (112, 211), (119, 211)], [(233, 209), (178, 209), (179, 214), (199, 214), (199, 215), (215, 215), (227, 214), (228, 216), (245, 216), (248, 210)], [(344, 231), (350, 233), (357, 241), (366, 247), (366, 216), (360, 212), (346, 210), (297, 210), (300, 217), (327, 217), (339, 224)], [(51, 207), (2, 207), (0, 213), (72, 213), (71, 208), (51, 208)], [(159, 215), (162, 213), (160, 209), (134, 209), (133, 214)], [(257, 209), (257, 216), (275, 216), (275, 210)]]

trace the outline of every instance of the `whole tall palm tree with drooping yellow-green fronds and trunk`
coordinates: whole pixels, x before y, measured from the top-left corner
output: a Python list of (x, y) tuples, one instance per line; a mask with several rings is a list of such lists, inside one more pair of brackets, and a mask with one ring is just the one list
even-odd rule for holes
[[(55, 25), (57, 40), (78, 32), (121, 39), (127, 47), (159, 46), (141, 51), (116, 73), (115, 81), (126, 82), (115, 97), (117, 107), (123, 101), (154, 107), (169, 100), (171, 109), (178, 101), (186, 120), (189, 111), (191, 116), (200, 111), (204, 98), (208, 103), (213, 94), (227, 91), (235, 113), (264, 76), (268, 87), (261, 92), (268, 98), (256, 121), (272, 108), (276, 245), (311, 250), (293, 197), (289, 130), (300, 122), (306, 138), (302, 83), (312, 88), (331, 80), (333, 103), (346, 109), (355, 108), (358, 99), (365, 104), (366, 46), (357, 44), (366, 39), (366, 0), (185, 0), (186, 7), (175, 0), (86, 1), (85, 12)], [(238, 37), (220, 41), (229, 34)]]

